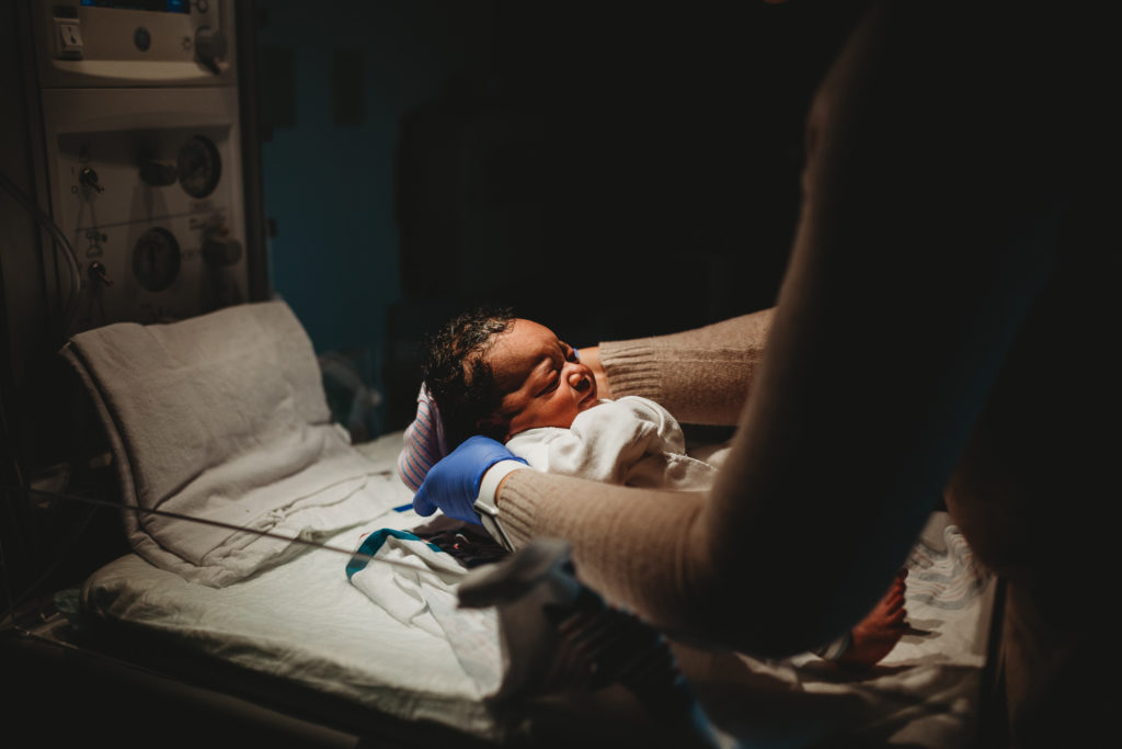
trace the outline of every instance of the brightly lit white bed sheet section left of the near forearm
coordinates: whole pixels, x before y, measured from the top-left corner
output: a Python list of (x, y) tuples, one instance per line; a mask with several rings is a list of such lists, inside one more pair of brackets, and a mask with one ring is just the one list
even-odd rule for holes
[[(395, 504), (412, 499), (390, 471), (399, 447), (401, 433), (359, 447), (376, 460), (393, 456), (387, 473), (373, 476), (362, 491), (398, 495)], [(365, 530), (407, 528), (420, 520), (412, 511), (388, 512), (327, 545), (353, 549)], [(100, 620), (166, 633), (200, 652), (389, 715), (502, 741), (504, 729), (450, 641), (405, 625), (375, 605), (348, 582), (348, 559), (347, 554), (313, 549), (214, 588), (129, 554), (86, 581), (83, 610)]]

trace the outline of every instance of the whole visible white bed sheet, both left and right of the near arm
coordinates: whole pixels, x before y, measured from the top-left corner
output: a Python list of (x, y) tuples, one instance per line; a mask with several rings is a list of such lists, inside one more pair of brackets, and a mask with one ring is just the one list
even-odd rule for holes
[[(408, 503), (411, 493), (393, 473), (401, 433), (358, 447), (386, 468), (364, 491), (393, 493), (399, 500), (393, 505)], [(422, 520), (412, 511), (388, 512), (328, 544), (351, 550), (366, 532)], [(166, 632), (200, 652), (358, 705), (506, 741), (514, 729), (488, 707), (486, 689), (461, 666), (453, 639), (387, 613), (348, 581), (348, 559), (312, 550), (213, 588), (127, 555), (86, 582), (84, 604), (100, 619)], [(838, 737), (935, 749), (968, 743), (993, 582), (974, 565), (946, 513), (932, 515), (909, 567), (910, 621), (923, 633), (905, 636), (868, 672), (840, 670), (813, 656), (762, 661), (675, 645), (725, 743), (776, 737), (791, 747)], [(494, 637), (497, 649), (497, 628)]]

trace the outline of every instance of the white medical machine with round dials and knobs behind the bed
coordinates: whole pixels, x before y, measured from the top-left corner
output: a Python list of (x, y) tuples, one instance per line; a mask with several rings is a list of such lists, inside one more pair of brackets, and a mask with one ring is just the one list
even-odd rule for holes
[[(85, 286), (70, 332), (259, 298), (232, 0), (35, 0), (30, 15), (50, 214)], [(57, 248), (45, 255), (47, 293), (68, 293)]]

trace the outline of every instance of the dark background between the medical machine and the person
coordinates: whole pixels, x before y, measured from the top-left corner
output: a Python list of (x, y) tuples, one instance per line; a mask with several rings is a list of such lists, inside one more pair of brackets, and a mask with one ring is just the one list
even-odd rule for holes
[(367, 433), (477, 303), (578, 347), (770, 307), (863, 4), (258, 0), (272, 284), (378, 394)]

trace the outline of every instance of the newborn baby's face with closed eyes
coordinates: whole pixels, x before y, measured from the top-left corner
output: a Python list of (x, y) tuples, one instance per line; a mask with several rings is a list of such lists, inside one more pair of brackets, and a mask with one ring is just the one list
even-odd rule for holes
[(489, 362), (512, 415), (507, 438), (535, 427), (568, 429), (577, 414), (596, 405), (596, 378), (577, 360), (572, 346), (532, 320), (516, 319), (495, 340)]

